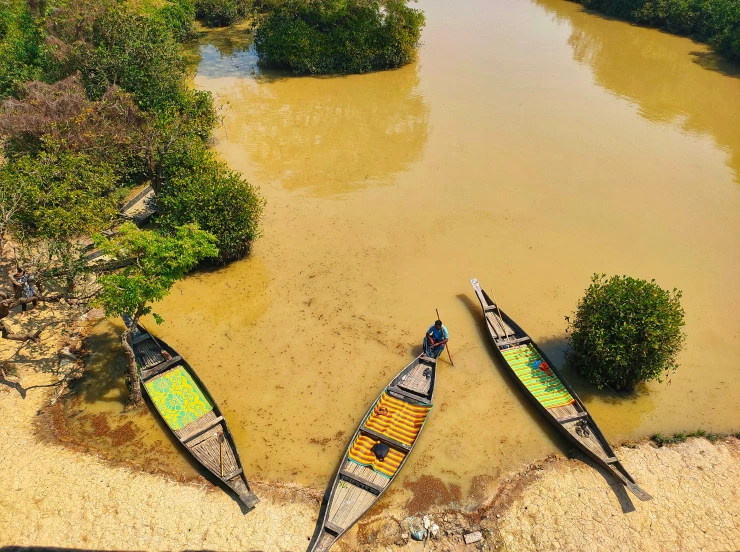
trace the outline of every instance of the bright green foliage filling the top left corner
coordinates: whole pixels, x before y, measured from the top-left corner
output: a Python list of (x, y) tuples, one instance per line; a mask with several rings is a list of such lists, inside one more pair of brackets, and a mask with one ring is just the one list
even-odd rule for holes
[(0, 2), (0, 98), (16, 96), (23, 83), (43, 77), (50, 59), (45, 34), (25, 2)]

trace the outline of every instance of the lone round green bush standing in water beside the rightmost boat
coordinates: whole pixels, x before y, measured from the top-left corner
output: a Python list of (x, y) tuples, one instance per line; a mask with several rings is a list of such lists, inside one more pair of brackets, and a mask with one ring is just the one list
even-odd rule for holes
[(599, 389), (631, 390), (675, 371), (684, 342), (681, 292), (594, 275), (570, 326), (569, 362)]

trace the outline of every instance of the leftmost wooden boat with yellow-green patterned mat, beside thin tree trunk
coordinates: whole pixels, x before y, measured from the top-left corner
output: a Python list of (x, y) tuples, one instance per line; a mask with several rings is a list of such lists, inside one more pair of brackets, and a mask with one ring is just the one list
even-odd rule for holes
[(157, 414), (193, 458), (232, 489), (247, 508), (254, 508), (259, 499), (249, 487), (229, 426), (198, 374), (141, 324), (131, 332), (131, 343), (141, 387)]

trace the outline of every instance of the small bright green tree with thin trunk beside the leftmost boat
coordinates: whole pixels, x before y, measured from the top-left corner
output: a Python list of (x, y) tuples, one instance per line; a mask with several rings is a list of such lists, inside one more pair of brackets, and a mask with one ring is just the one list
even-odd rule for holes
[(131, 330), (139, 319), (152, 314), (157, 324), (162, 318), (152, 312), (152, 303), (162, 300), (172, 286), (198, 263), (218, 255), (216, 239), (196, 225), (179, 226), (170, 236), (140, 230), (132, 223), (121, 226), (112, 238), (96, 237), (96, 245), (114, 260), (133, 261), (115, 274), (99, 279), (102, 287), (97, 302), (106, 316), (129, 315), (133, 325), (121, 335), (129, 364), (131, 402), (141, 404), (139, 372), (131, 346)]

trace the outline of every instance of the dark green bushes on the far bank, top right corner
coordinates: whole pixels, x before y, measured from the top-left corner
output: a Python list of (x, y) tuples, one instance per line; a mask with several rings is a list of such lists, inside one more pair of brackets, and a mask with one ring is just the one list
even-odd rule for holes
[(706, 42), (740, 61), (740, 2), (737, 0), (575, 1), (607, 15)]

